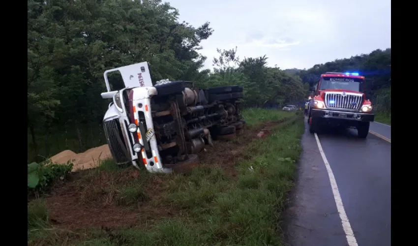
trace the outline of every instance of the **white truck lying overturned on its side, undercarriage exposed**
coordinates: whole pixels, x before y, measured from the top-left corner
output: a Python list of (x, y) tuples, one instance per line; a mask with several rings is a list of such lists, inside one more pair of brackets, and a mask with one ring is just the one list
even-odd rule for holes
[[(119, 71), (124, 89), (111, 91), (108, 74)], [(199, 163), (197, 153), (212, 137), (231, 139), (244, 130), (239, 111), (243, 88), (197, 89), (193, 82), (160, 81), (152, 85), (148, 62), (104, 72), (113, 99), (103, 119), (117, 164), (132, 162), (149, 172), (187, 171)]]

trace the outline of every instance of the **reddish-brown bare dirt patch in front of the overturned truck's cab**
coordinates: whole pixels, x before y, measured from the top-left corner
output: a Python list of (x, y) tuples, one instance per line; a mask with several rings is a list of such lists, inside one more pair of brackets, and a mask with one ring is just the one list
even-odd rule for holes
[(125, 185), (135, 179), (144, 179), (141, 171), (127, 168), (120, 172), (102, 171), (94, 175), (91, 172), (73, 173), (69, 181), (54, 188), (46, 198), (51, 220), (56, 227), (70, 230), (90, 226), (133, 227), (174, 214), (170, 206), (154, 207), (155, 201), (161, 199), (166, 189), (159, 177), (150, 176), (144, 180), (149, 200), (126, 207), (117, 204), (117, 197)]

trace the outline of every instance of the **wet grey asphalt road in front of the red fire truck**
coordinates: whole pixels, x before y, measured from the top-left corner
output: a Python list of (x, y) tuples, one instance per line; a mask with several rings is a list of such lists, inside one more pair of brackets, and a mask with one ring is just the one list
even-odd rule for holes
[[(372, 123), (370, 131), (367, 139), (358, 139), (356, 129), (318, 134), (327, 169), (305, 121), (298, 183), (286, 213), (289, 245), (390, 246), (390, 126)], [(350, 231), (357, 243), (347, 237)]]

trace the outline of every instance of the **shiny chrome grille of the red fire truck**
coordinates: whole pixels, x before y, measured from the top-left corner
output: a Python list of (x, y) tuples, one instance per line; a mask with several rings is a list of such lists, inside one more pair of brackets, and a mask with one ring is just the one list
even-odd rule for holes
[(362, 96), (356, 94), (325, 93), (325, 106), (334, 109), (358, 110)]

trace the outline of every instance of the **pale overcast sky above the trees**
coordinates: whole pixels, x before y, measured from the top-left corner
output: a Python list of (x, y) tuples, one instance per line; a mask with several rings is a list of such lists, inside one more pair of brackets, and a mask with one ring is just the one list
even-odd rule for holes
[(390, 47), (390, 0), (166, 0), (179, 21), (213, 34), (200, 53), (212, 68), (216, 48), (238, 46), (239, 58), (267, 55), (268, 65), (317, 63)]

